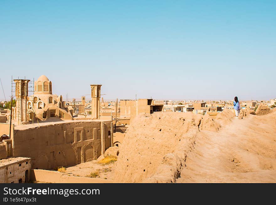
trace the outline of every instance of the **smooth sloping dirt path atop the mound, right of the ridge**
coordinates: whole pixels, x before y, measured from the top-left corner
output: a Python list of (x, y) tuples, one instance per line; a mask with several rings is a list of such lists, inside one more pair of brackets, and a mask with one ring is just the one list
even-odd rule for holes
[(218, 133), (199, 133), (178, 183), (275, 183), (276, 119), (233, 119)]

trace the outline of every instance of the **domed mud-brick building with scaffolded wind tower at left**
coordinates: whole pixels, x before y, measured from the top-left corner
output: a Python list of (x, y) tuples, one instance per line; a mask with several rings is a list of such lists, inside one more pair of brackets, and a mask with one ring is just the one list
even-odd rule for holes
[(61, 118), (72, 120), (72, 113), (65, 108), (65, 101), (61, 95), (52, 94), (52, 82), (45, 76), (40, 76), (34, 82), (34, 95), (28, 96), (29, 80), (15, 79), (16, 107), (13, 108), (13, 119), (18, 124), (46, 120), (47, 118)]

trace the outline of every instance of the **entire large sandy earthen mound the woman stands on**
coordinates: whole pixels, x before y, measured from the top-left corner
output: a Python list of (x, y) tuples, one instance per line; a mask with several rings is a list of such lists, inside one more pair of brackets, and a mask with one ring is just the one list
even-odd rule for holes
[[(275, 182), (276, 109), (264, 116), (213, 119), (193, 113), (137, 116), (114, 172), (117, 183)], [(251, 115), (250, 115), (251, 114)]]

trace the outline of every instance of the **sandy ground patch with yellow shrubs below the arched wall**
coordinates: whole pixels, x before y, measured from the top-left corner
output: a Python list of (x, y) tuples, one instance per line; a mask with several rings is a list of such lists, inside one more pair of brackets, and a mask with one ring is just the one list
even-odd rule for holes
[(90, 173), (92, 172), (98, 172), (99, 175), (97, 176), (97, 178), (113, 180), (115, 163), (103, 165), (99, 164), (97, 160), (93, 160), (90, 162), (85, 162), (72, 167), (68, 167), (66, 168), (65, 173), (71, 176), (87, 177), (87, 175), (90, 175)]

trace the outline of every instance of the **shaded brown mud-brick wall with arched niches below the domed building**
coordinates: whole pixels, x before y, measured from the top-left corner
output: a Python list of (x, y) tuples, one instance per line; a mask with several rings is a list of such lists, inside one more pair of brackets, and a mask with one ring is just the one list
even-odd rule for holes
[(91, 161), (111, 146), (111, 129), (111, 121), (70, 121), (14, 130), (14, 156), (32, 158), (34, 169)]

